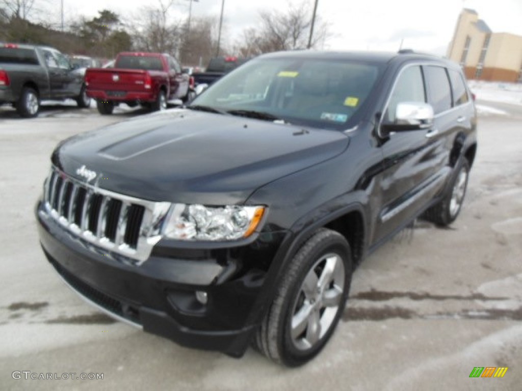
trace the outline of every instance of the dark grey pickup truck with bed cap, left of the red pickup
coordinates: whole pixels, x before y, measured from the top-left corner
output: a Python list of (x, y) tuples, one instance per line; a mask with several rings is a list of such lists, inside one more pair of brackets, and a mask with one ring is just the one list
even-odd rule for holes
[(84, 75), (49, 46), (0, 45), (0, 104), (11, 103), (20, 116), (36, 117), (44, 100), (72, 98), (89, 107)]

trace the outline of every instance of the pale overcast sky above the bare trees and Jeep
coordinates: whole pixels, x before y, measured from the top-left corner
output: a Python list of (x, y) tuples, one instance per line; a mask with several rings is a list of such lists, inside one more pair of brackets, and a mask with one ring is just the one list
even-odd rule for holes
[[(158, 0), (63, 0), (65, 19), (88, 18), (109, 8), (123, 16)], [(165, 1), (165, 0), (164, 0)], [(192, 17), (219, 18), (222, 0), (193, 0)], [(52, 0), (60, 18), (60, 1)], [(314, 0), (293, 0), (313, 8)], [(173, 16), (188, 16), (189, 0), (177, 0)], [(522, 35), (522, 0), (319, 0), (317, 15), (328, 22), (333, 36), (329, 50), (396, 51), (402, 47), (445, 54), (462, 7), (472, 8), (494, 32)], [(224, 39), (232, 44), (247, 27), (255, 27), (262, 9), (286, 10), (286, 0), (225, 0)]]

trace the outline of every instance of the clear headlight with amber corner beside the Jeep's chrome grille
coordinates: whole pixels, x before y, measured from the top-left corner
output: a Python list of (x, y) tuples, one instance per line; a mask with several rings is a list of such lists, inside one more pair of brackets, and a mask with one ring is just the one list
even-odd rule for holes
[(263, 206), (173, 204), (163, 235), (177, 240), (236, 240), (255, 231)]

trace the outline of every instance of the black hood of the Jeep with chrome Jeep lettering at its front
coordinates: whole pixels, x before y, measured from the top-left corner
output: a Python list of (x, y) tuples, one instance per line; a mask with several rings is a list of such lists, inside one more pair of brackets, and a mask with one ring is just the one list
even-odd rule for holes
[(338, 131), (174, 109), (67, 139), (52, 162), (128, 196), (238, 204), (270, 181), (340, 154), (348, 143)]

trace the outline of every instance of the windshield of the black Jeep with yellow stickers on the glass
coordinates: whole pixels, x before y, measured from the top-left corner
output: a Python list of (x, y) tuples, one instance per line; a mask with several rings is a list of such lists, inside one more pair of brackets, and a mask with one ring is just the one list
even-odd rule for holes
[[(193, 108), (327, 129), (346, 129), (379, 75), (346, 59), (261, 58), (198, 96)], [(189, 106), (191, 107), (191, 106)]]

